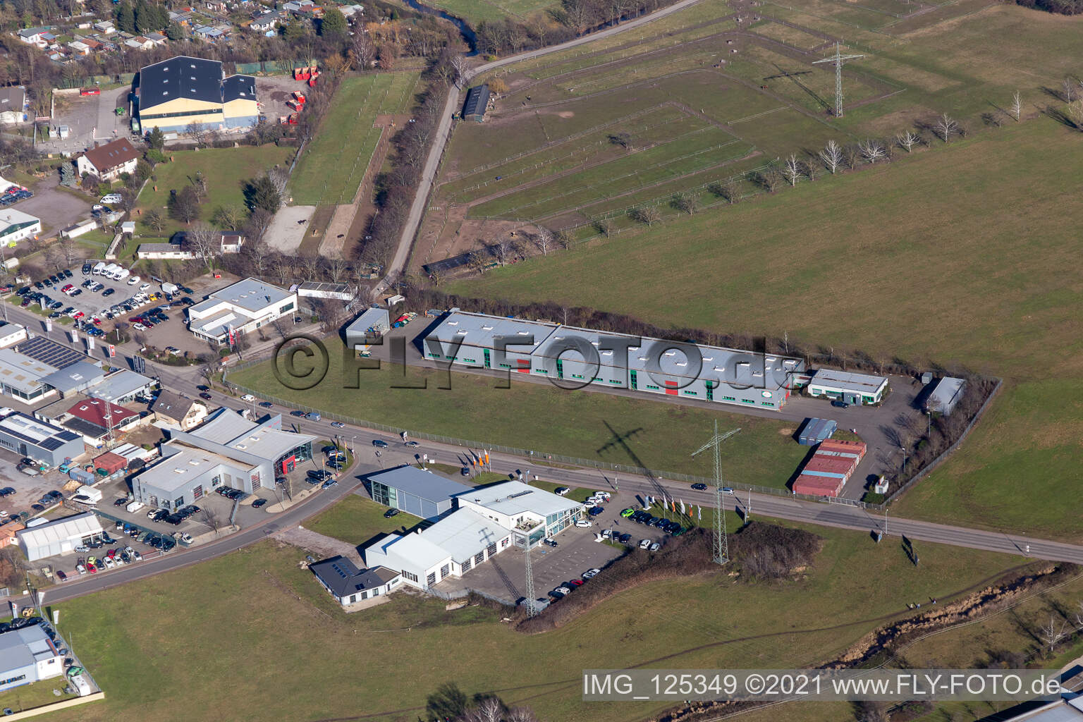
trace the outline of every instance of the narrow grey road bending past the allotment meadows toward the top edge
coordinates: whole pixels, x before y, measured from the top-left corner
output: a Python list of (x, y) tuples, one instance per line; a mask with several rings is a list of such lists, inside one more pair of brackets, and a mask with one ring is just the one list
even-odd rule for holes
[(421, 169), (421, 180), (418, 182), (417, 195), (414, 196), (414, 202), (410, 205), (409, 215), (406, 216), (406, 225), (403, 226), (402, 236), (399, 238), (399, 246), (395, 248), (395, 254), (391, 259), (387, 274), (384, 274), (383, 278), (380, 279), (380, 283), (376, 285), (376, 288), (373, 289), (373, 298), (377, 298), (380, 292), (388, 287), (389, 278), (392, 278), (406, 267), (406, 261), (409, 258), (409, 250), (414, 245), (414, 236), (417, 235), (418, 226), (421, 225), (421, 218), (425, 215), (425, 209), (429, 205), (429, 194), (432, 193), (432, 186), (436, 179), (436, 171), (440, 169), (440, 159), (444, 155), (444, 147), (447, 145), (447, 141), (451, 140), (452, 114), (454, 114), (455, 109), (458, 107), (458, 91), (460, 88), (469, 83), (472, 78), (477, 78), (483, 73), (488, 73), (490, 70), (494, 70), (511, 63), (529, 61), (534, 57), (548, 55), (549, 53), (557, 53), (562, 50), (567, 50), (569, 48), (575, 48), (576, 45), (593, 42), (595, 40), (601, 40), (602, 38), (609, 38), (610, 36), (614, 36), (618, 32), (624, 32), (625, 30), (630, 30), (639, 27), (640, 25), (645, 25), (647, 23), (656, 21), (660, 17), (665, 17), (666, 15), (683, 10), (689, 5), (694, 5), (697, 2), (700, 2), (700, 0), (680, 0), (668, 8), (655, 11), (650, 15), (643, 15), (642, 17), (628, 21), (624, 25), (616, 25), (604, 30), (598, 30), (597, 32), (591, 32), (583, 37), (575, 38), (574, 40), (569, 40), (567, 42), (562, 42), (559, 45), (549, 45), (548, 48), (539, 48), (538, 50), (531, 50), (518, 55), (509, 55), (508, 57), (493, 61), (492, 63), (485, 63), (484, 65), (479, 65), (478, 67), (469, 70), (466, 77), (459, 80), (459, 82), (455, 84), (455, 88), (447, 93), (447, 100), (444, 102), (444, 109), (441, 111), (440, 122), (436, 126), (436, 131), (433, 136), (432, 147), (429, 148), (429, 155), (425, 160), (425, 168)]

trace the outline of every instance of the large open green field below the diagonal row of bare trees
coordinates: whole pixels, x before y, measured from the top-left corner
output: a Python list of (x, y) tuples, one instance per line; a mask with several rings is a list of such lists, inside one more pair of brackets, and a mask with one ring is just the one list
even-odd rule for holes
[[(669, 326), (788, 332), (813, 350), (857, 347), (1004, 377), (1003, 397), (976, 433), (897, 509), (1078, 538), (1083, 522), (1064, 503), (1064, 483), (1083, 462), (1080, 341), (1071, 330), (1083, 297), (1070, 272), (1072, 219), (1083, 201), (1059, 171), (1031, 171), (1083, 172), (1080, 142), (1049, 120), (1013, 124), (449, 290)], [(599, 280), (629, 275), (634, 286)], [(830, 309), (826, 317), (805, 313), (811, 300)]]

